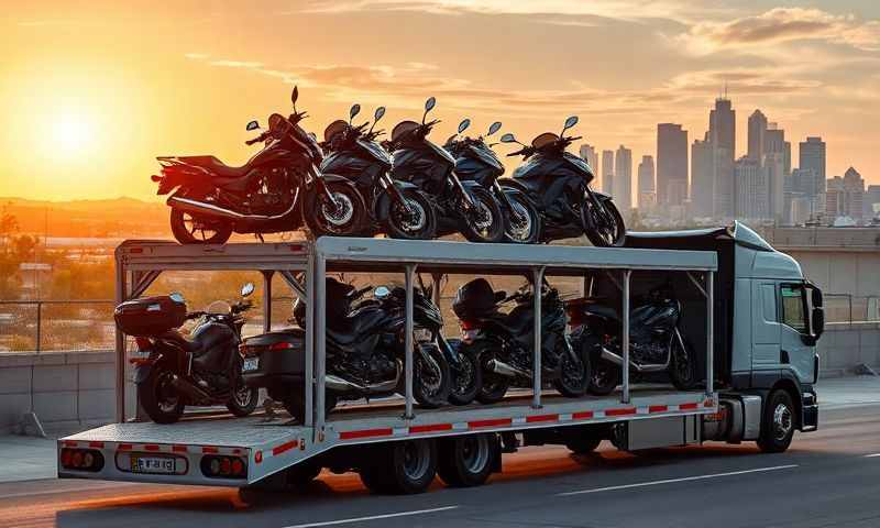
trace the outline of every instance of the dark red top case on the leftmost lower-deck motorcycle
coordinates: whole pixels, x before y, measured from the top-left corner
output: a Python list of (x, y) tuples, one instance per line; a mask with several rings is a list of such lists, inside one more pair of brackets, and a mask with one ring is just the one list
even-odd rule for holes
[(167, 295), (127, 300), (113, 310), (117, 327), (133, 337), (157, 336), (186, 321), (186, 304)]

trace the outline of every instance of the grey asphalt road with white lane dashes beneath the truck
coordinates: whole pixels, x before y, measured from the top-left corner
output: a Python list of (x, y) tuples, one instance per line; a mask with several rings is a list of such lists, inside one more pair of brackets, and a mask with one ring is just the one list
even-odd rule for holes
[(754, 443), (505, 455), (485, 486), (373, 496), (356, 475), (300, 493), (85, 481), (0, 485), (0, 527), (880, 527), (880, 405), (823, 413), (782, 454)]

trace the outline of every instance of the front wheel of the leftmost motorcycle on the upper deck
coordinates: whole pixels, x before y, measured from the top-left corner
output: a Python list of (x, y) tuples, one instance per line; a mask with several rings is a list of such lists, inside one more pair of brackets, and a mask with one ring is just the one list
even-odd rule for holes
[(305, 220), (311, 232), (316, 238), (358, 234), (366, 218), (366, 206), (358, 188), (348, 182), (326, 182), (324, 186), (327, 193), (312, 189), (306, 198)]

